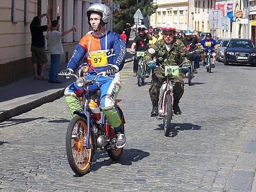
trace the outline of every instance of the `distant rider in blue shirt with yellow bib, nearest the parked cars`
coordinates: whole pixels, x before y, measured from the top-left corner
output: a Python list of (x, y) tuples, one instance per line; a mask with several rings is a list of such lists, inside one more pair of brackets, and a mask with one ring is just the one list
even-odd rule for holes
[[(201, 42), (201, 48), (205, 50), (205, 52), (208, 52), (208, 50), (211, 50), (211, 56), (212, 56), (212, 68), (215, 68), (215, 61), (216, 61), (216, 53), (214, 51), (215, 48), (217, 48), (218, 44), (216, 40), (211, 38), (211, 33), (206, 33), (206, 38), (202, 40)], [(205, 53), (202, 53), (202, 59), (204, 61), (203, 66), (206, 65), (205, 61)]]

